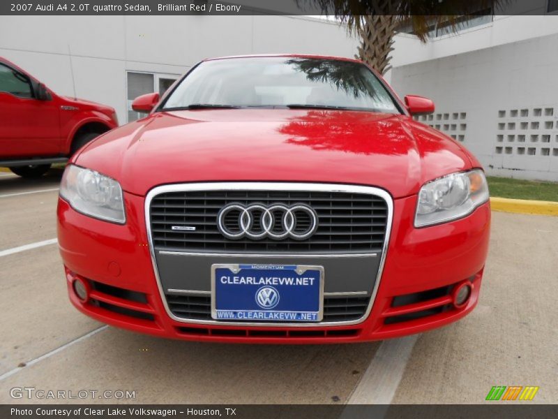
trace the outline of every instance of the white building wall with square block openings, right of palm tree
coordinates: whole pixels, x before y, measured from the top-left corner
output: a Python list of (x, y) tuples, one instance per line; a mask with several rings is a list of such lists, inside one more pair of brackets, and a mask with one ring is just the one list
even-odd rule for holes
[[(558, 17), (539, 22), (545, 33)], [(496, 27), (483, 36), (497, 40)], [(420, 120), (461, 140), (489, 173), (558, 181), (558, 27), (523, 41), (463, 44), (469, 52), (449, 54), (469, 35), (430, 47), (439, 58), (393, 68), (393, 87), (432, 98), (435, 114)], [(399, 45), (396, 54), (406, 51)]]

